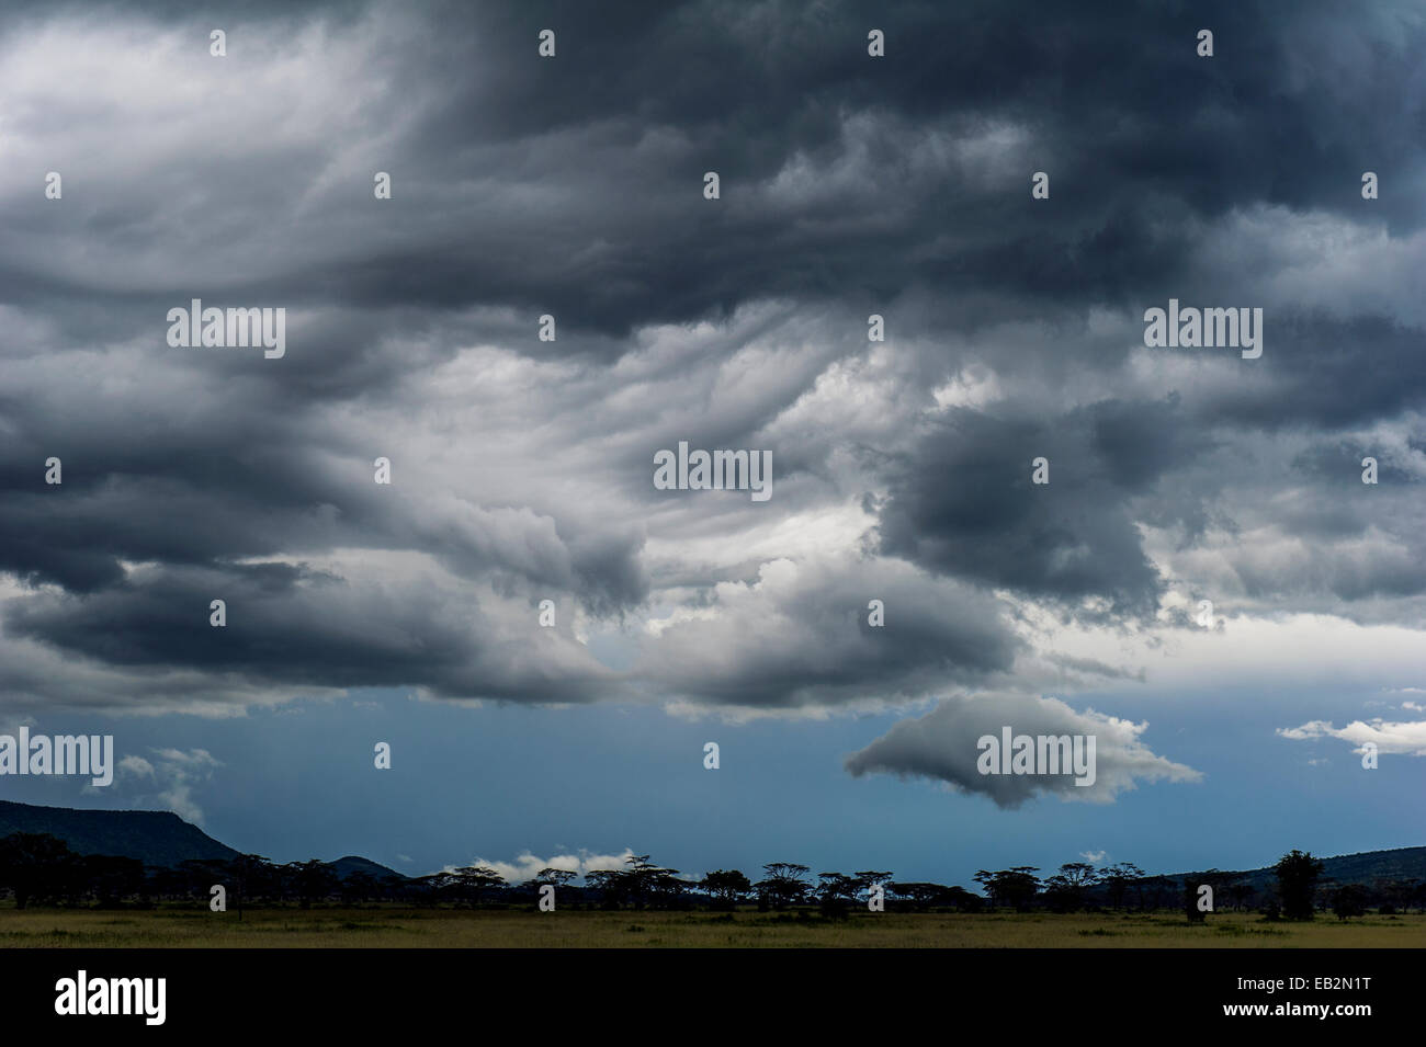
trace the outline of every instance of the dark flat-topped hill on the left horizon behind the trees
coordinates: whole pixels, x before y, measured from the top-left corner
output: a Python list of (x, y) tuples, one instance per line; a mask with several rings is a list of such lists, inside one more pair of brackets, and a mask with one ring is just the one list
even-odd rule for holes
[(47, 832), (80, 855), (121, 855), (154, 866), (238, 856), (173, 811), (76, 811), (0, 801), (0, 836), (13, 832)]

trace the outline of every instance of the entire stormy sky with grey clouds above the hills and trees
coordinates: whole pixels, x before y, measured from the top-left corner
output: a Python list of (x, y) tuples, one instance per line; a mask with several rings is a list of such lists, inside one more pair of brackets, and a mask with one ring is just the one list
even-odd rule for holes
[(125, 762), (4, 798), (411, 873), (1426, 843), (1419, 4), (10, 7), (0, 726)]

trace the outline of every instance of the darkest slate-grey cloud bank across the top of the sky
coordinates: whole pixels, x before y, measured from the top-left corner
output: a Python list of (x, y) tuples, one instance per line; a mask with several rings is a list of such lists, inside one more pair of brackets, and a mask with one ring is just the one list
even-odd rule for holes
[[(173, 214), (202, 177), (254, 229), (287, 232), (268, 265), (228, 272), (307, 306), (553, 302), (572, 329), (627, 333), (750, 296), (886, 299), (911, 285), (994, 288), (1022, 309), (1137, 303), (1184, 278), (1204, 219), (1255, 202), (1359, 214), (1363, 165), (1413, 177), (1419, 150), (1399, 128), (1420, 125), (1419, 95), (1380, 90), (1420, 77), (1410, 9), (1343, 20), (1303, 4), (1281, 21), (1268, 6), (1149, 3), (1032, 20), (988, 3), (258, 13), (225, 66), (204, 54), (198, 68), (251, 68), (275, 46), (271, 26), (381, 30), (365, 120), (281, 142), (289, 164), (220, 145), (107, 207), (141, 238), (140, 217)], [(890, 41), (880, 63), (866, 56), (871, 24)], [(1218, 34), (1214, 60), (1194, 54), (1201, 24)], [(533, 58), (543, 27), (560, 34), (555, 60)], [(1343, 68), (1343, 51), (1372, 61)], [(1303, 77), (1313, 63), (1339, 75)], [(322, 178), (344, 157), (395, 168), (388, 211), (354, 212), (365, 170)], [(716, 205), (699, 197), (706, 170), (727, 184)], [(1051, 171), (1052, 201), (1028, 201), (1032, 170)], [(1405, 194), (1373, 214), (1419, 228)], [(212, 225), (202, 232), (231, 235)], [(299, 265), (314, 244), (324, 264)]]

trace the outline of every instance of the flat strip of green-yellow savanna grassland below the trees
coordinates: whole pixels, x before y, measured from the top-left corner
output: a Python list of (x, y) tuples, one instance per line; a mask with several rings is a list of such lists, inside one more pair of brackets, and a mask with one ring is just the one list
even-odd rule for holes
[(1422, 949), (1426, 916), (1330, 913), (1298, 923), (1214, 913), (605, 912), (526, 909), (250, 909), (211, 913), (0, 909), (0, 947), (78, 949)]

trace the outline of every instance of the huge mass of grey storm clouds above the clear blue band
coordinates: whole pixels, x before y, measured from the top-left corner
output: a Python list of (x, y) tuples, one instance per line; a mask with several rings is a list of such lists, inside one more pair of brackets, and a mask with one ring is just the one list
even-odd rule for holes
[[(80, 704), (167, 670), (161, 699), (215, 704), (796, 709), (1012, 675), (1044, 638), (994, 593), (1085, 625), (1186, 627), (1172, 593), (1419, 625), (1423, 53), (1406, 3), (20, 4), (14, 694), (47, 652), (83, 661), (50, 688)], [(287, 356), (170, 349), (190, 298), (285, 306)], [(1262, 306), (1263, 356), (1145, 349), (1169, 298)], [(653, 490), (680, 439), (771, 450), (773, 500)], [(211, 590), (247, 608), (221, 637), (190, 613)]]

